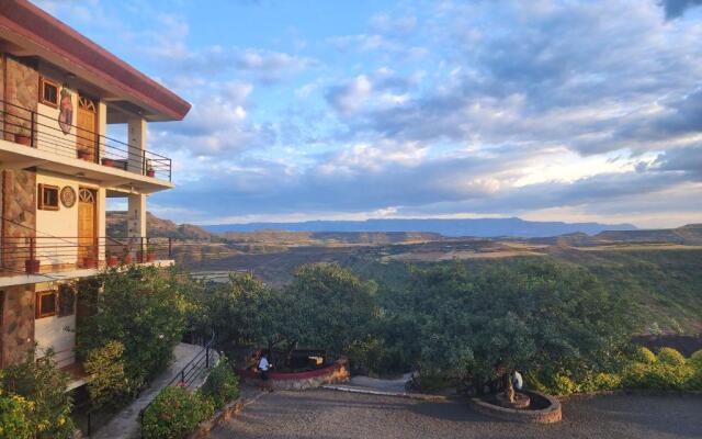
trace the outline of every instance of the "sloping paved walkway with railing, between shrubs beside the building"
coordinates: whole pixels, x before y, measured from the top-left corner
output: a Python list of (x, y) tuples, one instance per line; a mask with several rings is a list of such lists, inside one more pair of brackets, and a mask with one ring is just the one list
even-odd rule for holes
[[(131, 439), (139, 437), (139, 412), (146, 407), (151, 399), (158, 395), (158, 393), (170, 382), (173, 376), (190, 360), (192, 360), (200, 351), (202, 346), (179, 344), (173, 349), (173, 363), (168, 370), (161, 373), (147, 390), (141, 392), (139, 397), (135, 399), (128, 407), (120, 412), (107, 425), (93, 434), (91, 438), (95, 439)], [(201, 379), (200, 381), (202, 381)]]

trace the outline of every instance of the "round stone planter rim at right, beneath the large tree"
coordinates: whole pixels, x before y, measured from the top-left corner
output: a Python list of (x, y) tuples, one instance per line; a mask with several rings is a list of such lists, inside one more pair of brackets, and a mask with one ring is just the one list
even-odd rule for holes
[(518, 423), (553, 424), (561, 420), (561, 403), (553, 396), (539, 392), (522, 391), (531, 399), (533, 409), (506, 408), (485, 399), (469, 399), (471, 407), (484, 415)]

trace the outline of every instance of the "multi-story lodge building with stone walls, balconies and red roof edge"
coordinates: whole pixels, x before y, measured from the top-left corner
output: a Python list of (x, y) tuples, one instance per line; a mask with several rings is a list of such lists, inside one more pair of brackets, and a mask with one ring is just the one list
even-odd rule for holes
[[(146, 237), (146, 198), (173, 187), (171, 160), (148, 150), (147, 123), (189, 110), (32, 3), (0, 2), (0, 368), (36, 346), (70, 369), (81, 279), (168, 262)], [(110, 198), (127, 200), (122, 236), (105, 234)]]

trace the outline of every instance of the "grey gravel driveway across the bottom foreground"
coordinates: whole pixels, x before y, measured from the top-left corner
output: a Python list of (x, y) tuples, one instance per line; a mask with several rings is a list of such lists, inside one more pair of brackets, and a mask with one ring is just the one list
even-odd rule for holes
[(212, 438), (702, 438), (702, 396), (603, 396), (564, 405), (564, 420), (495, 420), (461, 402), (327, 390), (261, 395)]

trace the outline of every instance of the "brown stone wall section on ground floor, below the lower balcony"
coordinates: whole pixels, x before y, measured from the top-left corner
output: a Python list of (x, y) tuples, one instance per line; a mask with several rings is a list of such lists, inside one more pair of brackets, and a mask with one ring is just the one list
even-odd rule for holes
[(7, 368), (34, 349), (34, 285), (5, 288), (0, 300), (0, 368)]

